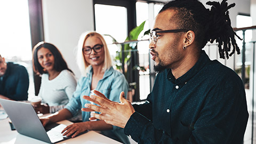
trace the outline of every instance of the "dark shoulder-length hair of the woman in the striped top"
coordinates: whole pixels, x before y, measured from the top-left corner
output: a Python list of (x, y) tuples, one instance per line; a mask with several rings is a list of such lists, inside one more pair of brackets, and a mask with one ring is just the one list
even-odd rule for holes
[[(48, 49), (54, 57), (54, 69), (56, 71), (62, 71), (62, 70), (69, 70), (71, 73), (73, 73), (72, 70), (70, 70), (68, 68), (68, 65), (66, 63), (66, 61), (63, 59), (60, 51), (57, 49), (57, 47), (51, 43), (46, 43), (46, 42), (39, 42), (38, 44), (36, 44), (33, 48), (33, 69), (35, 71), (36, 74), (45, 74), (48, 73), (46, 70), (44, 70), (44, 68), (40, 65), (38, 58), (37, 58), (37, 53), (38, 50), (41, 49), (42, 47), (44, 47), (45, 49)], [(74, 74), (74, 73), (73, 73)]]

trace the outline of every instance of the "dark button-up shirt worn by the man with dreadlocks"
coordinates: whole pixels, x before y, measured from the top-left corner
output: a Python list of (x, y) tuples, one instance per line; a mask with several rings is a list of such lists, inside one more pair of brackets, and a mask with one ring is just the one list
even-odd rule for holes
[(242, 143), (249, 114), (241, 78), (204, 51), (185, 75), (156, 76), (125, 126), (139, 143)]

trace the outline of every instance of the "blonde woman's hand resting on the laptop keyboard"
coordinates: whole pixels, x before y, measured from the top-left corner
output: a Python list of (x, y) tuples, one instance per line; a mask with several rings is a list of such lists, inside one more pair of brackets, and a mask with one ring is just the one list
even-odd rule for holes
[(71, 135), (71, 138), (75, 138), (77, 134), (84, 132), (86, 130), (87, 130), (86, 122), (81, 122), (81, 123), (74, 123), (74, 124), (68, 125), (61, 133), (66, 131), (65, 133), (63, 133), (63, 135), (67, 135), (67, 137)]

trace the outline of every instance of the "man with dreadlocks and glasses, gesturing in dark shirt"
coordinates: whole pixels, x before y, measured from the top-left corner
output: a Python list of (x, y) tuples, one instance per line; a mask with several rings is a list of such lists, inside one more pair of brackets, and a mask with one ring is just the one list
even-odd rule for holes
[(243, 82), (202, 50), (216, 41), (221, 58), (239, 53), (227, 11), (235, 4), (226, 1), (207, 2), (211, 10), (197, 0), (165, 4), (150, 33), (150, 54), (161, 73), (147, 102), (131, 105), (123, 92), (121, 103), (112, 102), (94, 91), (98, 96), (84, 99), (100, 106), (82, 110), (99, 111), (94, 118), (124, 127), (139, 143), (242, 143), (249, 117)]

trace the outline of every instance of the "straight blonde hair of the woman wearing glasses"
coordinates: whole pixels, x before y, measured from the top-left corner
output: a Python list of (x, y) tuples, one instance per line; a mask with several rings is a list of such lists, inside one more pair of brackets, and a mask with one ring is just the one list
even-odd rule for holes
[(77, 65), (81, 71), (82, 76), (86, 76), (86, 74), (88, 72), (87, 68), (90, 66), (90, 63), (88, 63), (84, 58), (83, 47), (84, 47), (84, 42), (86, 41), (86, 39), (91, 36), (95, 36), (100, 39), (100, 41), (102, 42), (102, 45), (103, 45), (103, 49), (105, 51), (105, 59), (104, 59), (102, 70), (106, 71), (108, 68), (110, 68), (112, 66), (112, 60), (110, 57), (110, 53), (108, 51), (108, 46), (107, 46), (107, 43), (106, 43), (105, 39), (103, 38), (103, 36), (95, 31), (87, 31), (80, 36), (78, 45), (77, 45), (77, 59), (76, 60), (77, 60)]

